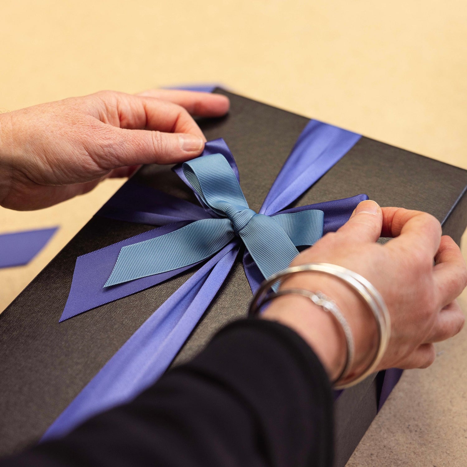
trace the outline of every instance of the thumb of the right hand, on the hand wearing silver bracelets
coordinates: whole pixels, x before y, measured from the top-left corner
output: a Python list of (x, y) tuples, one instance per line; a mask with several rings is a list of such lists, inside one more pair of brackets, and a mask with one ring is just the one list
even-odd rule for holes
[(338, 230), (355, 243), (375, 242), (381, 235), (382, 210), (375, 201), (362, 201)]

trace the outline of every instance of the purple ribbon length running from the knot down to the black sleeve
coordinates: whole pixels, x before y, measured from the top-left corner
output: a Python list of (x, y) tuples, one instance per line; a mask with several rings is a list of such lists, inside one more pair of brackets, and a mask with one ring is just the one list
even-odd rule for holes
[(61, 413), (41, 442), (63, 436), (154, 383), (212, 302), (238, 251), (237, 242), (231, 242), (170, 296)]

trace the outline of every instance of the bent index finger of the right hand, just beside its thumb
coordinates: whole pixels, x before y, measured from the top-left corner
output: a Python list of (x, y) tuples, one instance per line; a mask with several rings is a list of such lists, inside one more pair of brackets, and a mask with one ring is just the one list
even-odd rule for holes
[(434, 257), (441, 241), (441, 224), (427, 212), (398, 207), (382, 208), (382, 237), (394, 237), (393, 244), (426, 248)]

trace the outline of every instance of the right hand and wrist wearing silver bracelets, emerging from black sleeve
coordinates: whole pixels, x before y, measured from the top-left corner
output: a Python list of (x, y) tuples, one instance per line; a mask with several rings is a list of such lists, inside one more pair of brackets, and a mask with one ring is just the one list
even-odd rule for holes
[[(380, 245), (380, 236), (395, 238)], [(459, 333), (464, 324), (455, 299), (467, 284), (466, 265), (459, 247), (441, 236), (438, 220), (427, 213), (363, 201), (344, 226), (304, 250), (291, 265), (309, 262), (351, 269), (382, 295), (391, 317), (391, 337), (378, 369), (429, 366), (435, 359), (433, 342)], [(375, 355), (378, 339), (375, 319), (359, 297), (338, 279), (310, 272), (291, 276), (283, 288), (320, 290), (336, 302), (354, 334), (349, 379), (361, 374)], [(262, 316), (295, 329), (318, 354), (330, 378), (339, 375), (347, 347), (329, 313), (304, 297), (288, 295), (274, 299)]]

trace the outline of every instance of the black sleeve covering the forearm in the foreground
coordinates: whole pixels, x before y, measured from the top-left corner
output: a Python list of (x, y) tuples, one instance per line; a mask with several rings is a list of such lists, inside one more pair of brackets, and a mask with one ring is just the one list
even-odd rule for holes
[(134, 401), (6, 466), (331, 466), (325, 370), (289, 328), (237, 321)]

